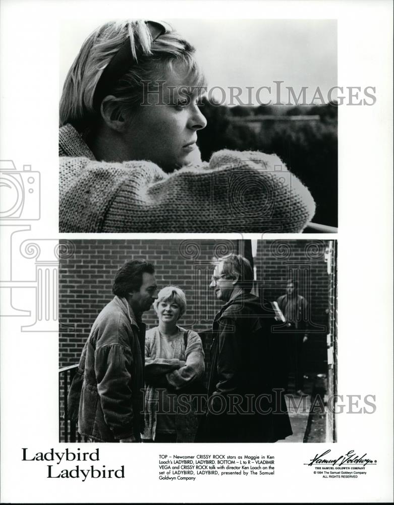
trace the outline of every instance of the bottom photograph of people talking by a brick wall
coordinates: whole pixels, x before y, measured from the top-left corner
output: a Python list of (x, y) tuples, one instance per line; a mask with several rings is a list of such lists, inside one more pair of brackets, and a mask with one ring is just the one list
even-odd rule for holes
[(61, 442), (335, 442), (336, 240), (61, 240)]

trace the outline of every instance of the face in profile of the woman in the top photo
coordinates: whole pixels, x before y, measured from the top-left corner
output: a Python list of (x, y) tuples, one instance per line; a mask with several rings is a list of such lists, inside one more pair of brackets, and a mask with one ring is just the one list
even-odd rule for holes
[(182, 72), (167, 70), (165, 82), (157, 94), (157, 86), (145, 93), (144, 102), (129, 123), (126, 141), (131, 159), (156, 163), (166, 172), (200, 161), (196, 145), (197, 131), (205, 128), (206, 119), (197, 106), (198, 93), (185, 96)]

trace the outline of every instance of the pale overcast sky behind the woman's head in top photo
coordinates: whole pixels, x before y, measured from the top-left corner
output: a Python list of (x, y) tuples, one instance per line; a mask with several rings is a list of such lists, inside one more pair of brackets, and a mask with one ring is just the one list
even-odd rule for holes
[[(107, 19), (73, 20), (61, 29), (60, 85), (83, 40)], [(208, 87), (255, 89), (284, 81), (298, 95), (307, 86), (308, 99), (319, 86), (324, 96), (337, 85), (336, 20), (166, 19), (197, 49)], [(214, 93), (215, 96), (217, 92)], [(254, 105), (255, 92), (252, 93)], [(260, 94), (263, 102), (268, 91)], [(272, 100), (275, 100), (272, 90)], [(284, 96), (287, 99), (287, 92)], [(282, 99), (282, 102), (284, 100)]]

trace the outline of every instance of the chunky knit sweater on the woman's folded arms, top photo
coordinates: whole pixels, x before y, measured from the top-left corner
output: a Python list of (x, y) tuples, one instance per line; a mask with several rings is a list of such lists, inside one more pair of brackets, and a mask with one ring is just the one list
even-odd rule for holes
[(71, 125), (59, 137), (61, 232), (297, 233), (315, 212), (275, 155), (224, 149), (168, 174), (149, 161), (96, 161)]

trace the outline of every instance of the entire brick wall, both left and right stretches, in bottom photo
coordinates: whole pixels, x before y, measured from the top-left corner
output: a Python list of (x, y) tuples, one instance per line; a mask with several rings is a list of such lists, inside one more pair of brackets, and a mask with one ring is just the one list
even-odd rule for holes
[[(180, 321), (197, 332), (209, 330), (220, 307), (208, 289), (212, 260), (243, 249), (237, 240), (73, 240), (74, 250), (64, 254), (59, 270), (60, 342), (59, 365), (78, 363), (81, 350), (97, 314), (112, 299), (115, 273), (127, 260), (146, 259), (155, 265), (159, 287), (168, 284), (184, 289), (187, 313)], [(312, 321), (325, 324), (329, 277), (324, 263), (323, 241), (259, 241), (255, 258), (257, 279), (269, 300), (284, 293), (291, 269), (303, 272), (309, 284), (300, 294), (312, 309)], [(66, 249), (66, 247), (65, 247)], [(298, 270), (297, 270), (298, 269)], [(147, 327), (157, 325), (152, 310), (145, 313)], [(308, 342), (308, 370), (322, 371), (326, 362), (325, 333)], [(209, 339), (206, 341), (206, 349)], [(209, 355), (206, 353), (207, 369)]]

